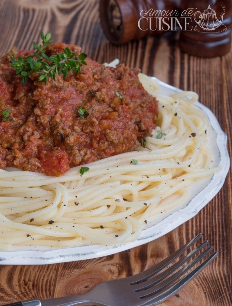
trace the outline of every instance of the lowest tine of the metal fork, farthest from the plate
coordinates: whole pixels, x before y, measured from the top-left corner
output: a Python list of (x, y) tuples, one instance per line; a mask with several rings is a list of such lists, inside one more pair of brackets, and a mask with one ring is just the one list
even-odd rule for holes
[(211, 263), (217, 256), (219, 252), (214, 252), (211, 256), (205, 259), (200, 265), (198, 265), (195, 269), (193, 269), (189, 274), (185, 275), (174, 285), (168, 287), (166, 290), (156, 294), (155, 296), (150, 296), (148, 298), (144, 298), (144, 304), (140, 304), (141, 306), (152, 306), (158, 303), (162, 303), (164, 300), (167, 300), (176, 292), (178, 292), (181, 288), (187, 285), (197, 274), (199, 274), (209, 263)]

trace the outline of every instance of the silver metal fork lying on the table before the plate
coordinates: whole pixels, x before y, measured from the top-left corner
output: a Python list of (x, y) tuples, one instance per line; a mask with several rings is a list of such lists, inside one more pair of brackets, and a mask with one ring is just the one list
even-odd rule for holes
[[(193, 251), (174, 263), (185, 250), (193, 245), (203, 234), (200, 233), (179, 250), (139, 274), (126, 278), (103, 282), (91, 291), (69, 297), (58, 297), (49, 300), (28, 300), (17, 306), (72, 306), (72, 305), (96, 305), (96, 306), (152, 306), (167, 300), (184, 285), (190, 282), (200, 271), (204, 269), (216, 256), (218, 252), (208, 256), (196, 268), (179, 279), (191, 267), (199, 263), (212, 249), (210, 246), (188, 264), (178, 270), (186, 261), (190, 260), (197, 252), (208, 244), (208, 240), (197, 246)], [(171, 265), (170, 265), (171, 264)], [(169, 266), (169, 267), (167, 267)], [(166, 268), (167, 267), (167, 268)], [(165, 269), (166, 268), (166, 269)], [(165, 270), (164, 270), (165, 269)], [(163, 272), (157, 274), (158, 272)], [(169, 276), (172, 274), (171, 276)], [(179, 280), (178, 280), (179, 279)], [(13, 304), (9, 304), (13, 305)], [(14, 303), (16, 306), (16, 303)]]

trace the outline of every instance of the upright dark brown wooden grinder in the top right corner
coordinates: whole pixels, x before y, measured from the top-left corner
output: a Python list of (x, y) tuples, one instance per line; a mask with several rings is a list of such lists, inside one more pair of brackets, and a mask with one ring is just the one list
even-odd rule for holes
[(182, 51), (200, 57), (226, 54), (231, 47), (231, 0), (181, 0), (181, 11), (194, 10), (189, 24), (191, 31), (182, 31)]

